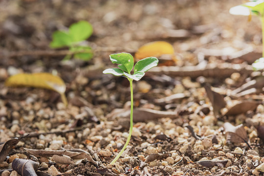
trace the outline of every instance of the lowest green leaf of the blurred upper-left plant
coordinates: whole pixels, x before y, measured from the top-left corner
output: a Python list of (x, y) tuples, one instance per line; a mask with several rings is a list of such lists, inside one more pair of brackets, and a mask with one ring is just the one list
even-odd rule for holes
[(82, 59), (84, 61), (88, 61), (93, 57), (92, 48), (89, 46), (74, 46), (70, 48), (70, 51), (77, 52), (80, 51), (81, 53), (74, 54), (74, 58)]

